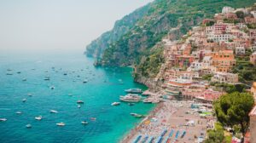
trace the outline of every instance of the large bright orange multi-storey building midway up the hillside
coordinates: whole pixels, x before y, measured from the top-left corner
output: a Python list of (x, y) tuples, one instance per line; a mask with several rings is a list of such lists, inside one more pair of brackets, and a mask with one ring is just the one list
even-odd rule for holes
[(233, 50), (220, 50), (212, 53), (211, 66), (215, 66), (217, 72), (230, 72), (235, 65)]

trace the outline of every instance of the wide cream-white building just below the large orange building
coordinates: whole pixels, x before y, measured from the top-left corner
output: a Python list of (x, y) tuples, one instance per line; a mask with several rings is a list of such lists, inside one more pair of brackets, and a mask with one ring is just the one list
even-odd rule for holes
[(214, 73), (211, 79), (211, 82), (235, 84), (235, 83), (238, 83), (238, 75), (234, 73), (228, 73), (228, 72), (216, 72)]

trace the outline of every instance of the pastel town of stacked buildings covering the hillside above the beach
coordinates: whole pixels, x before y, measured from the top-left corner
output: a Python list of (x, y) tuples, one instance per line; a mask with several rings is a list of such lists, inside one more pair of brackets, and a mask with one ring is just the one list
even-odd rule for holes
[[(155, 80), (165, 81), (162, 88), (171, 99), (212, 103), (225, 94), (224, 89), (214, 86), (216, 83), (244, 84), (233, 72), (237, 58), (249, 56), (250, 63), (256, 65), (255, 23), (255, 10), (224, 7), (214, 19), (205, 19), (201, 26), (193, 27), (182, 40), (163, 39), (166, 63)], [(253, 83), (254, 100), (255, 88)], [(251, 133), (255, 133), (256, 107), (250, 116)], [(254, 138), (250, 142), (256, 142)]]

